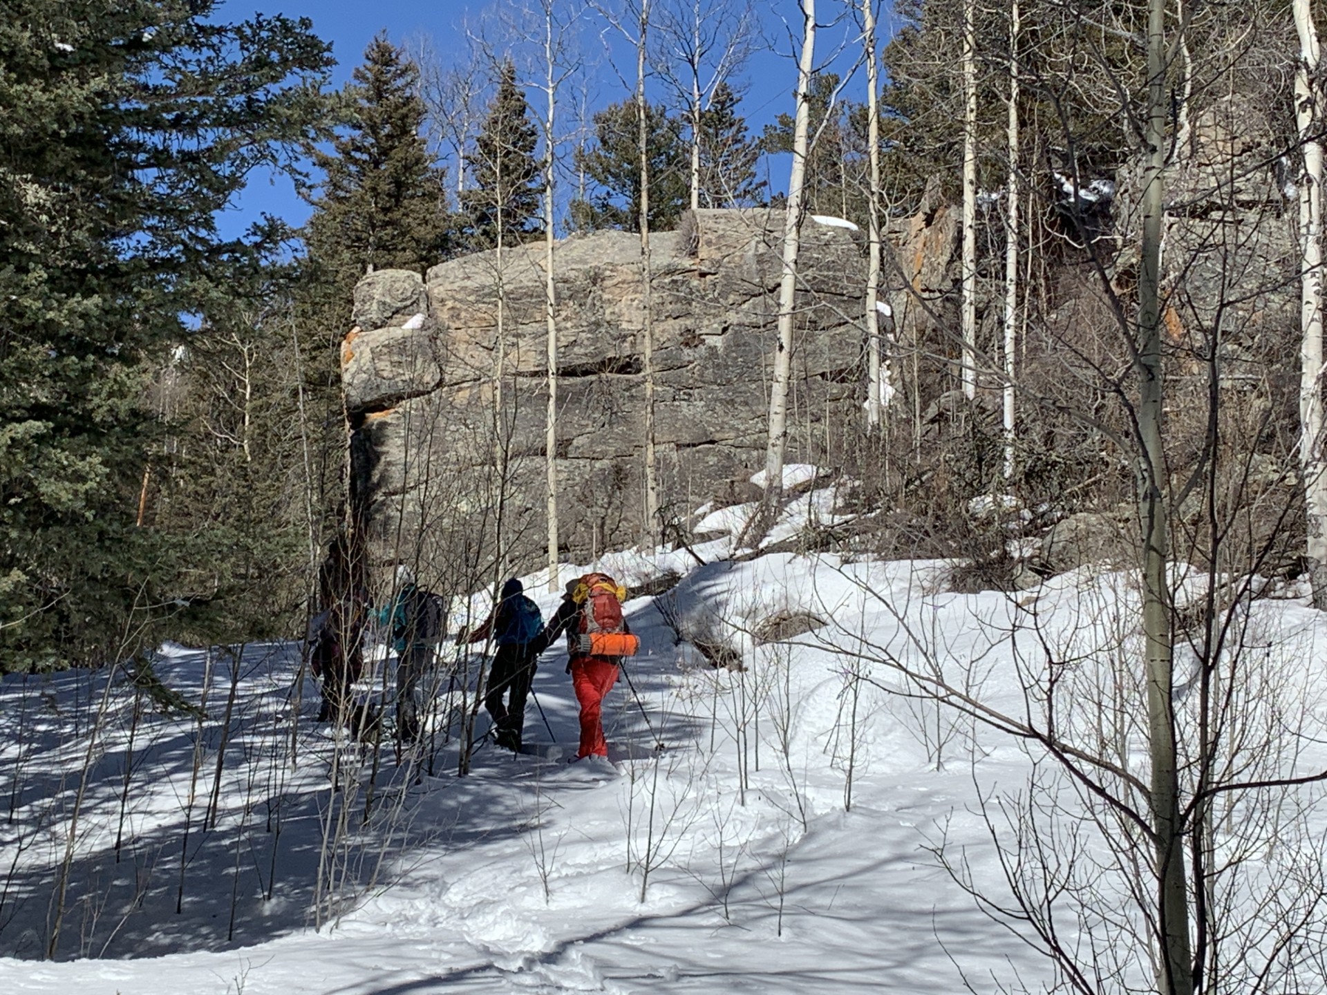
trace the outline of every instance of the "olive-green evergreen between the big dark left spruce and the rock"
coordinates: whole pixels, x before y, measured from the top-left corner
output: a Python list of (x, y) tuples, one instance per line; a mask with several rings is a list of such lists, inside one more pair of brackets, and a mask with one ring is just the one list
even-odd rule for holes
[(232, 643), (303, 626), (308, 496), (318, 488), (305, 478), (317, 470), (304, 451), (316, 423), (297, 382), (307, 357), (291, 336), (296, 272), (276, 251), (236, 272), (151, 387), (166, 434), (139, 513), (188, 551), (176, 639)]

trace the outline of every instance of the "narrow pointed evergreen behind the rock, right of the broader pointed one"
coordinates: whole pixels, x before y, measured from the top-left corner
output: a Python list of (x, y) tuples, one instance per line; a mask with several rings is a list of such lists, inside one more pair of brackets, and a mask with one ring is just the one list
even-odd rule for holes
[(498, 93), (467, 157), (474, 186), (462, 194), (460, 203), (471, 251), (496, 245), (499, 227), (503, 245), (520, 244), (543, 231), (537, 143), (529, 105), (516, 85), (516, 68), (504, 62)]

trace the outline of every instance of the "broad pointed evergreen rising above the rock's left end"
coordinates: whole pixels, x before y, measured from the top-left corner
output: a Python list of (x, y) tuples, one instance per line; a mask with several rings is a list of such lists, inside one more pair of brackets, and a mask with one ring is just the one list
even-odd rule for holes
[(421, 137), (427, 113), (419, 70), (382, 34), (364, 52), (345, 89), (349, 127), (332, 151), (314, 150), (324, 179), (307, 239), (349, 306), (350, 289), (370, 268), (423, 269), (451, 248), (446, 178)]

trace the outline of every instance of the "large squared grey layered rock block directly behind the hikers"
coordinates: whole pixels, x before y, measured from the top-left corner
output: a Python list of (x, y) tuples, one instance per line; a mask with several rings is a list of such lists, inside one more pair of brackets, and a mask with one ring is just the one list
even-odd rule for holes
[[(763, 464), (783, 212), (697, 211), (652, 239), (656, 444), (665, 516)], [(802, 236), (788, 460), (836, 460), (860, 399), (865, 264), (853, 236)], [(645, 531), (640, 245), (628, 232), (560, 241), (559, 529), (585, 559)], [(508, 247), (356, 288), (342, 348), (352, 501), (374, 560), (427, 556), (443, 520), (496, 529), (512, 565), (545, 536), (544, 245)], [(449, 517), (450, 516), (450, 517)], [(441, 552), (441, 551), (439, 551)]]

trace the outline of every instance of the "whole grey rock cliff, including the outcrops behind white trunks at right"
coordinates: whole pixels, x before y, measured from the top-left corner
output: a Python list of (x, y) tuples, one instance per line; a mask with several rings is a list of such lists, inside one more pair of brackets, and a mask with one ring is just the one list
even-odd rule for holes
[[(1246, 425), (1241, 431), (1253, 438), (1270, 413), (1292, 410), (1285, 357), (1294, 354), (1298, 326), (1295, 191), (1279, 171), (1275, 137), (1259, 122), (1247, 102), (1217, 101), (1194, 115), (1168, 171), (1162, 283), (1176, 402), (1166, 431), (1177, 452), (1204, 444), (1205, 425), (1186, 415), (1205, 403), (1201, 357), (1213, 348), (1220, 385), (1237, 389), (1226, 410)], [(1043, 284), (1024, 304), (1024, 393), (1074, 403), (1079, 385), (1097, 385), (1088, 397), (1100, 405), (1115, 389), (1100, 375), (1119, 366), (1120, 336), (1136, 306), (1140, 186), (1131, 162), (1115, 178), (1074, 186), (1052, 174), (1038, 188), (1038, 239), (1058, 248), (1040, 260)], [(978, 346), (994, 364), (1002, 349), (1002, 219), (987, 207), (979, 222)], [(894, 370), (905, 402), (897, 410), (913, 422), (913, 439), (937, 443), (912, 443), (917, 478), (926, 480), (961, 478), (950, 456), (977, 450), (966, 436), (953, 439), (981, 419), (997, 430), (1003, 386), (999, 374), (983, 371), (975, 406), (957, 389), (957, 210), (932, 182), (917, 212), (892, 218), (886, 231), (893, 256), (881, 291), (890, 312), (884, 332), (896, 366), (909, 361)], [(654, 237), (649, 295), (666, 520), (711, 498), (754, 496), (744, 480), (763, 463), (782, 231), (780, 210), (710, 210)], [(865, 394), (860, 235), (808, 220), (799, 269), (788, 460), (844, 466)], [(606, 231), (557, 244), (559, 532), (572, 559), (645, 532), (642, 304), (634, 235)], [(445, 560), (446, 549), (470, 543), (491, 549), (502, 531), (510, 566), (537, 565), (547, 491), (544, 245), (455, 259), (426, 277), (373, 273), (356, 288), (353, 317), (342, 353), (350, 498), (374, 561)], [(1104, 450), (1066, 411), (1020, 406), (1028, 464), (1043, 474), (1024, 482), (1030, 494), (1042, 487), (1048, 505), (1064, 503), (1066, 511), (1125, 500), (1132, 478), (1101, 483)], [(1070, 467), (1093, 486), (1074, 488), (1064, 501), (1066, 482), (1079, 472)]]

